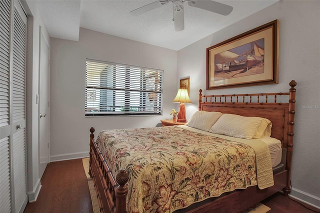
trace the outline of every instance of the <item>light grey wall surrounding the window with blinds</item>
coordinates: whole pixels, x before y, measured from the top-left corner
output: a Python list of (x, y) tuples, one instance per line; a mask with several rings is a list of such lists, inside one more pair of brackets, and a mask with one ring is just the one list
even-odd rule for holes
[[(177, 52), (80, 28), (79, 41), (51, 38), (50, 159), (88, 156), (89, 128), (156, 126), (175, 106)], [(162, 116), (84, 117), (86, 58), (164, 70)]]

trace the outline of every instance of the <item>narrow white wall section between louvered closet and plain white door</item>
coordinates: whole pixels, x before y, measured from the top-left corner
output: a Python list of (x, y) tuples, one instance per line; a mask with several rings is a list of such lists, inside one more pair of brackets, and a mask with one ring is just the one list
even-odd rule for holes
[(41, 31), (49, 43), (50, 36), (43, 22), (38, 5), (33, 0), (21, 0), (27, 13), (27, 190), (29, 202), (35, 201), (41, 188), (39, 178), (39, 152), (38, 152), (38, 104), (35, 95), (39, 90), (39, 33)]

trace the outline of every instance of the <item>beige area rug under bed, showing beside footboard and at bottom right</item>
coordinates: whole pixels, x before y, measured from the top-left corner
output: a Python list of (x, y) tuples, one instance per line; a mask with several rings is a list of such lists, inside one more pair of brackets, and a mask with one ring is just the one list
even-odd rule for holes
[[(85, 175), (88, 179), (88, 185), (89, 185), (89, 189), (90, 189), (93, 212), (98, 213), (98, 212), (100, 212), (100, 208), (99, 208), (98, 200), (96, 198), (96, 192), (94, 189), (93, 180), (89, 175), (89, 157), (82, 158), (82, 164), (83, 164), (83, 168), (85, 171)], [(270, 209), (271, 208), (269, 208), (268, 206), (266, 206), (262, 203), (258, 203), (255, 206), (253, 206), (253, 207), (251, 207), (241, 213), (265, 213), (265, 212), (268, 212)]]

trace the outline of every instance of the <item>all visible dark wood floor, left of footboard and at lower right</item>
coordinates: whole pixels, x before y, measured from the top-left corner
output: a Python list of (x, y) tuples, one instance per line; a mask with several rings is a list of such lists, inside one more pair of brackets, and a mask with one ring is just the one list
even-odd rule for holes
[[(42, 188), (36, 202), (28, 203), (24, 213), (92, 212), (90, 192), (81, 159), (50, 162), (42, 176), (41, 184)], [(318, 209), (304, 204), (311, 208), (308, 209), (279, 192), (262, 203), (271, 208), (268, 213), (319, 212)]]

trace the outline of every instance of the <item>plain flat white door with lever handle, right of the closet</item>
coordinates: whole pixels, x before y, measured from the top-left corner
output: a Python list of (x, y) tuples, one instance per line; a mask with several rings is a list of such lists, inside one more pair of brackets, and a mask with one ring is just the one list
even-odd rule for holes
[[(41, 31), (41, 27), (40, 27)], [(40, 33), (39, 63), (39, 177), (49, 162), (49, 47)]]

